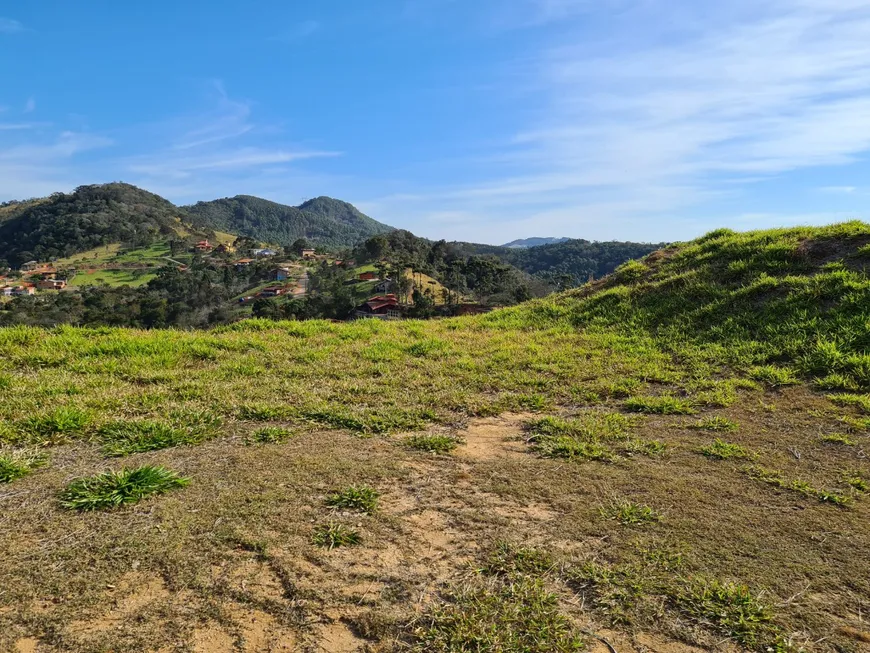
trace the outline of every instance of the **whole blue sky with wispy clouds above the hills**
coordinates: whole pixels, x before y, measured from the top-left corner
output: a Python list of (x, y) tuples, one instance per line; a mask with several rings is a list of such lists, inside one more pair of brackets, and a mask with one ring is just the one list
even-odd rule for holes
[(0, 200), (331, 195), (489, 243), (870, 206), (870, 0), (0, 0), (0, 80)]

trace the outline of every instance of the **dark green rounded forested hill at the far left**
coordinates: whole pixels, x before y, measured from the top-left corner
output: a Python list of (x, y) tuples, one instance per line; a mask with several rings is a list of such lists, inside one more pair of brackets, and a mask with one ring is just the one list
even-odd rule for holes
[(122, 183), (7, 202), (0, 205), (0, 267), (70, 256), (109, 243), (148, 244), (178, 233), (183, 215), (159, 195)]

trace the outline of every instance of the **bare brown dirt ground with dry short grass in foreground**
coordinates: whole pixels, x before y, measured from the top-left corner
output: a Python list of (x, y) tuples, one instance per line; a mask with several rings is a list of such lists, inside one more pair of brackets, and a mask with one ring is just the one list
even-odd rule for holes
[[(830, 410), (798, 388), (711, 412), (737, 420), (728, 439), (766, 464), (823, 483), (840, 468), (866, 467), (865, 440), (833, 454), (820, 442), (837, 425)], [(499, 541), (602, 564), (640, 546), (679, 549), (689, 574), (764, 588), (799, 646), (868, 650), (865, 502), (825, 505), (710, 461), (697, 447), (713, 434), (685, 428), (694, 417), (646, 418), (638, 434), (668, 452), (618, 464), (534, 455), (524, 425), (535, 417), (471, 420), (450, 455), (411, 451), (403, 436), (338, 431), (141, 454), (137, 462), (171, 463), (195, 482), (100, 514), (57, 508), (67, 480), (104, 465), (87, 446), (58, 449), (52, 468), (0, 492), (0, 650), (397, 650), (440, 592), (472, 577)], [(381, 493), (375, 515), (324, 505), (351, 484)], [(644, 528), (604, 520), (599, 508), (613, 497), (663, 518)], [(315, 547), (312, 529), (330, 520), (358, 529), (362, 544)], [(580, 593), (553, 589), (579, 628), (620, 653), (739, 650), (679, 620), (614, 624)], [(588, 650), (610, 649), (590, 637)]]

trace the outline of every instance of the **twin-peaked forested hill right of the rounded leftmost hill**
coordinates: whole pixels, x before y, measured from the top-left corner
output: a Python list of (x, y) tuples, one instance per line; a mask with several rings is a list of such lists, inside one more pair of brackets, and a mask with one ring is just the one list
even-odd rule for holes
[(306, 238), (324, 247), (352, 247), (393, 230), (353, 205), (330, 197), (318, 197), (301, 206), (286, 206), (238, 195), (185, 208), (193, 224), (201, 228), (243, 234), (284, 246)]

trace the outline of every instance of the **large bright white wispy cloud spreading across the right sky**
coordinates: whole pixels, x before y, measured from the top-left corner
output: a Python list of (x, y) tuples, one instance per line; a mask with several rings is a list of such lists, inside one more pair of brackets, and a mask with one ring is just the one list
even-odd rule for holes
[[(540, 20), (590, 11), (534, 5)], [(540, 53), (526, 79), (541, 98), (534, 118), (477, 182), (372, 204), (424, 231), (427, 216), (461, 209), (489, 241), (502, 238), (487, 235), (496, 218), (502, 234), (531, 224), (630, 236), (640, 224), (663, 239), (678, 227), (662, 228), (667, 212), (870, 151), (870, 2), (634, 0), (598, 11), (619, 14), (612, 30)]]

